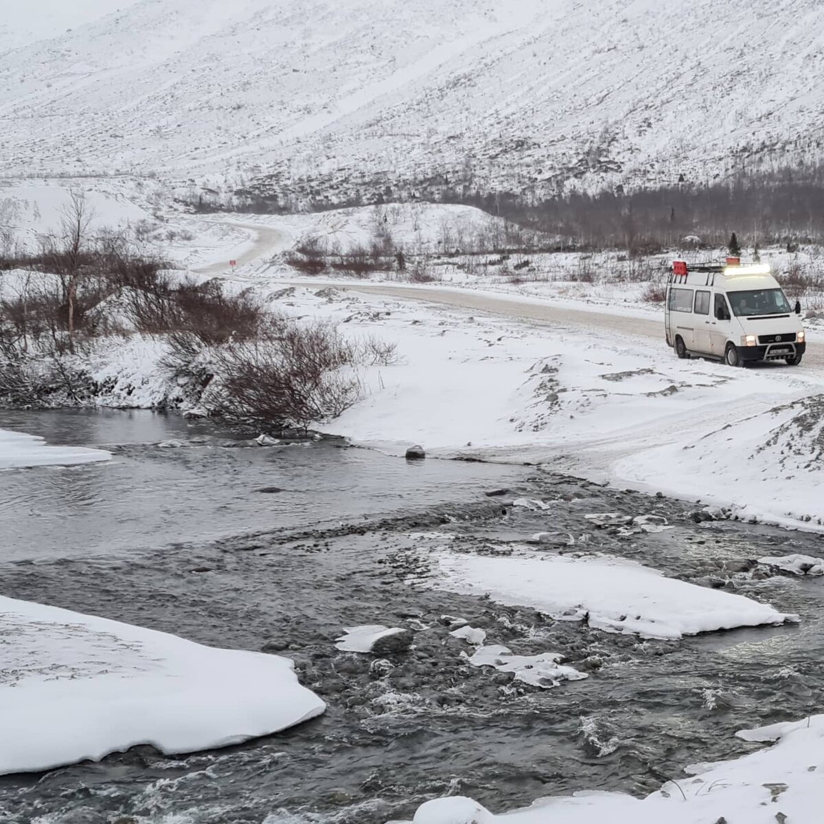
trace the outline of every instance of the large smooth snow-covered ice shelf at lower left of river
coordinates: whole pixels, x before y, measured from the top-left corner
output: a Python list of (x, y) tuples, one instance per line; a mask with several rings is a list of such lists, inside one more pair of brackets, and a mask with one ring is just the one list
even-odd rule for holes
[(0, 775), (225, 747), (321, 714), (293, 662), (0, 597)]

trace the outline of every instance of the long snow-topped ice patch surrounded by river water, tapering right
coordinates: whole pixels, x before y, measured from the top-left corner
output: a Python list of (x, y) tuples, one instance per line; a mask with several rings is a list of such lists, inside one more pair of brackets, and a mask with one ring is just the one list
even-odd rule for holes
[(798, 620), (741, 595), (666, 578), (655, 569), (605, 555), (585, 558), (433, 556), (429, 585), (531, 606), (559, 620), (588, 620), (607, 632), (680, 639), (739, 626)]

